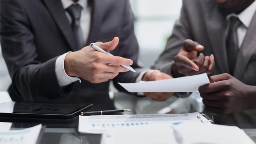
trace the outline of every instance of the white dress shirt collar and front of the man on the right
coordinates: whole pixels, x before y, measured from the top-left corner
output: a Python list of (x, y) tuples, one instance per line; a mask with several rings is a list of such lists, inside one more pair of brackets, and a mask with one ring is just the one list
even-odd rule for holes
[(242, 43), (244, 41), (244, 37), (247, 33), (247, 29), (250, 26), (251, 20), (256, 12), (256, 1), (253, 2), (249, 7), (244, 9), (243, 12), (240, 14), (230, 14), (228, 18), (231, 16), (236, 16), (240, 21), (243, 23), (242, 26), (237, 28), (237, 38), (238, 38), (238, 47), (240, 48), (242, 46)]

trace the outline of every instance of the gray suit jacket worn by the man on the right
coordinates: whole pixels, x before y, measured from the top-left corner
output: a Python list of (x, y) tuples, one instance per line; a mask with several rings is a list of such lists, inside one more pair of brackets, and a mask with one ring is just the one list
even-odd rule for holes
[[(185, 39), (202, 44), (202, 53), (214, 54), (215, 67), (211, 75), (230, 73), (225, 46), (226, 17), (219, 13), (214, 0), (183, 0), (181, 16), (175, 23), (165, 50), (156, 61), (154, 68), (170, 74), (174, 57), (182, 48)], [(256, 15), (251, 21), (247, 34), (237, 56), (233, 76), (244, 84), (256, 86)], [(198, 54), (201, 52), (198, 52)], [(230, 119), (230, 120), (228, 120)], [(231, 120), (233, 119), (233, 120)], [(233, 115), (215, 116), (218, 123), (240, 123), (241, 127), (256, 127), (256, 110), (250, 109)]]

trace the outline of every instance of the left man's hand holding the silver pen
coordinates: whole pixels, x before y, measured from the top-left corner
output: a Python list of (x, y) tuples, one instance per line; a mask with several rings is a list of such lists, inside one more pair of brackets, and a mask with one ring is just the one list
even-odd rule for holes
[[(114, 37), (110, 42), (96, 42), (103, 49), (111, 51), (116, 48), (119, 38)], [(100, 83), (116, 77), (119, 72), (128, 70), (120, 65), (132, 65), (133, 61), (119, 56), (109, 56), (86, 46), (79, 51), (67, 53), (64, 68), (67, 75), (79, 76), (91, 83)]]

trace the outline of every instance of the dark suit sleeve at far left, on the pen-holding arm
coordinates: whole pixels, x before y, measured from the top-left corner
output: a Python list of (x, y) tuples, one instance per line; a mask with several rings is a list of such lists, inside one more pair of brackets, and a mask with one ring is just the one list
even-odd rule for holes
[(33, 30), (21, 2), (1, 0), (0, 17), (2, 54), (12, 78), (12, 99), (65, 98), (56, 79), (56, 58), (45, 62), (37, 60)]

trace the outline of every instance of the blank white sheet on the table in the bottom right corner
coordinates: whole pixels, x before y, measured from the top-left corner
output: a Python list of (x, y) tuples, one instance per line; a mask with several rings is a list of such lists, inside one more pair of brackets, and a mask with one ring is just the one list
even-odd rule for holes
[(191, 122), (176, 125), (175, 129), (182, 136), (183, 144), (255, 144), (236, 126)]

